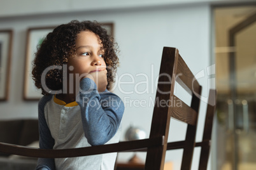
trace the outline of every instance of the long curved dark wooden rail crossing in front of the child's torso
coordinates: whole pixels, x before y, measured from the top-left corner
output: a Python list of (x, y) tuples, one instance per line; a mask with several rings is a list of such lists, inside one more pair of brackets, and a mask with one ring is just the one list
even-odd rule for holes
[(148, 148), (162, 145), (162, 137), (150, 138), (145, 140), (122, 141), (107, 145), (98, 145), (83, 148), (69, 149), (39, 149), (31, 147), (23, 147), (0, 142), (0, 152), (13, 155), (22, 155), (26, 157), (41, 158), (65, 158), (65, 157), (82, 157), (87, 155), (106, 154), (111, 152), (121, 152), (136, 150), (138, 148)]

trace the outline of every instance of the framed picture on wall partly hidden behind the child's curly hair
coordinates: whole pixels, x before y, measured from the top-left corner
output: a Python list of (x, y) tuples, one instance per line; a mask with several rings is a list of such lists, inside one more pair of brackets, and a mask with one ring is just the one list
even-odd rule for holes
[[(99, 23), (101, 27), (107, 30), (110, 36), (114, 36), (114, 24)], [(34, 86), (34, 81), (32, 80), (32, 62), (34, 60), (34, 54), (37, 51), (37, 46), (39, 42), (48, 34), (52, 32), (55, 26), (50, 27), (34, 27), (27, 29), (27, 40), (26, 40), (26, 52), (25, 52), (25, 73), (24, 73), (24, 93), (23, 99), (32, 101), (39, 100), (43, 95), (41, 95), (41, 90)]]

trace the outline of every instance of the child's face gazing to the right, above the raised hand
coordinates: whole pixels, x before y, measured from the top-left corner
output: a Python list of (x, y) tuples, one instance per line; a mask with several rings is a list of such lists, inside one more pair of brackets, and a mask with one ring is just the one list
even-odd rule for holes
[[(76, 55), (68, 60), (69, 73), (90, 74), (106, 70), (101, 39), (90, 31), (82, 31), (76, 39)], [(70, 69), (73, 66), (73, 70)]]

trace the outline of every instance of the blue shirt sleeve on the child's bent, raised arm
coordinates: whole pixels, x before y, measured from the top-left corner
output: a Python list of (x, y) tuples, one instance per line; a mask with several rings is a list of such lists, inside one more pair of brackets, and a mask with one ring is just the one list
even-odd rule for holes
[(124, 103), (117, 95), (108, 90), (99, 94), (95, 82), (84, 78), (76, 102), (81, 108), (83, 131), (90, 145), (103, 145), (117, 133), (124, 114)]

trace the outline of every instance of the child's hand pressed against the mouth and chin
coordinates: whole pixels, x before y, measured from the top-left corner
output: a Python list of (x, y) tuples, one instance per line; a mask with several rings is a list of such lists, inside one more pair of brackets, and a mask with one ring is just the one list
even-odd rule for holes
[(104, 69), (99, 72), (90, 72), (85, 77), (92, 79), (96, 83), (97, 91), (103, 92), (106, 90), (106, 86), (108, 85), (106, 74), (107, 74), (107, 70)]

